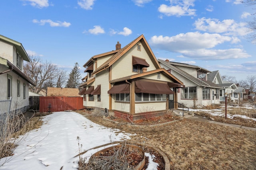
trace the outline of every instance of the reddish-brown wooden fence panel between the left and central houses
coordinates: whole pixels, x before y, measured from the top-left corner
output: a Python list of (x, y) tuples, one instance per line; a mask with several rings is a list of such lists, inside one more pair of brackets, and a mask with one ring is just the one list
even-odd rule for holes
[(65, 96), (40, 96), (40, 112), (54, 112), (83, 109), (83, 98)]

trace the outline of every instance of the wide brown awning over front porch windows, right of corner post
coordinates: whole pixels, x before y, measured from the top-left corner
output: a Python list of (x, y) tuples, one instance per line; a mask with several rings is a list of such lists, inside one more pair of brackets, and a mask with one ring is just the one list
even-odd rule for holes
[(167, 83), (135, 81), (135, 93), (174, 94)]

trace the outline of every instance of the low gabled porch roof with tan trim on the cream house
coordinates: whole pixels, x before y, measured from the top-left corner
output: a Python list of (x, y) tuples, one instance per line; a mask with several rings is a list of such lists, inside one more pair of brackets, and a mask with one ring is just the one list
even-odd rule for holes
[(147, 76), (147, 75), (154, 74), (154, 73), (157, 73), (157, 72), (161, 72), (162, 74), (164, 74), (164, 76), (166, 76), (167, 78), (169, 78), (173, 82), (177, 82), (177, 83), (180, 83), (180, 84), (184, 85), (183, 82), (181, 82), (174, 75), (170, 74), (164, 68), (158, 68), (156, 70), (152, 70), (152, 71), (148, 71), (148, 72), (144, 72), (144, 73), (132, 74), (130, 76), (126, 76), (126, 77), (118, 78), (118, 79), (115, 79), (115, 80), (111, 80), (110, 83), (122, 82), (122, 81), (125, 81), (125, 80), (131, 80), (131, 79), (134, 79), (134, 78), (141, 78), (142, 76)]

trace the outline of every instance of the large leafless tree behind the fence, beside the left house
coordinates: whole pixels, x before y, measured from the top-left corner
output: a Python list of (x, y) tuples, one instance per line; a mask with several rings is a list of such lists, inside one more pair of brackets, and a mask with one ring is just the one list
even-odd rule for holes
[(30, 63), (27, 62), (24, 65), (24, 74), (33, 80), (36, 86), (30, 85), (29, 90), (39, 93), (43, 88), (56, 86), (56, 79), (61, 75), (56, 64), (48, 61), (43, 62), (37, 56), (30, 56), (30, 60)]

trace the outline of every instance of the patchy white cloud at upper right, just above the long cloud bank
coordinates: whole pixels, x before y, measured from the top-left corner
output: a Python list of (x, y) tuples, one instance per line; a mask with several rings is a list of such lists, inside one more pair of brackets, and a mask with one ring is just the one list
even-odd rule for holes
[(225, 35), (246, 35), (248, 28), (245, 22), (236, 23), (234, 20), (223, 20), (212, 18), (199, 18), (194, 25), (197, 30), (211, 33), (224, 33)]

